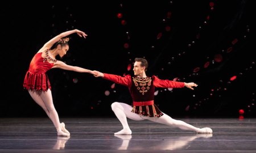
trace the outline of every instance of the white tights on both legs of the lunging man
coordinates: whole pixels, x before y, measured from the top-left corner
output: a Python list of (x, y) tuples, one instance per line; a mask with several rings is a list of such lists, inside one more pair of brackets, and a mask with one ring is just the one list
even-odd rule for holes
[(197, 133), (212, 133), (212, 130), (210, 128), (196, 128), (195, 126), (187, 124), (184, 121), (174, 120), (167, 114), (164, 114), (161, 117), (140, 116), (139, 114), (131, 112), (133, 108), (125, 103), (114, 102), (111, 105), (111, 107), (115, 113), (115, 116), (117, 116), (118, 120), (121, 122), (123, 129), (130, 130), (129, 125), (127, 123), (127, 118), (130, 118), (131, 120), (135, 121), (150, 120), (153, 122), (158, 122), (160, 124), (174, 126), (182, 130), (196, 131)]

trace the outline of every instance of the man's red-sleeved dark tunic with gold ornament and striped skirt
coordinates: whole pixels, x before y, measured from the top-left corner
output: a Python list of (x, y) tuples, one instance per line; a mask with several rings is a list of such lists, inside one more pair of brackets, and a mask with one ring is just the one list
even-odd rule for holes
[(131, 77), (130, 75), (126, 75), (125, 77), (122, 77), (118, 75), (104, 73), (104, 78), (128, 87), (131, 97), (133, 99), (133, 110), (131, 110), (131, 112), (148, 117), (163, 116), (163, 113), (154, 104), (155, 87), (184, 87), (184, 82), (162, 80), (155, 75), (153, 75), (152, 77), (147, 76), (146, 78), (139, 78), (137, 76)]

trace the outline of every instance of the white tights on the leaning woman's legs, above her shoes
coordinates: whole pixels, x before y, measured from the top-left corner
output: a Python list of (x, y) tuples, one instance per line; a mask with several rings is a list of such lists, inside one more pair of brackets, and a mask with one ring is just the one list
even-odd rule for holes
[(53, 105), (51, 90), (47, 90), (47, 91), (28, 90), (28, 92), (30, 93), (32, 99), (35, 100), (35, 102), (44, 109), (47, 116), (53, 122), (56, 130), (61, 131), (59, 115)]

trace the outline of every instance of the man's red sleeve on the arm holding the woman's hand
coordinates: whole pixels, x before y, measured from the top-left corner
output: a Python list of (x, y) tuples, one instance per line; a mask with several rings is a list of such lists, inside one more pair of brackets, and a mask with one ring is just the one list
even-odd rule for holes
[(131, 86), (131, 75), (126, 75), (126, 76), (119, 76), (119, 75), (114, 75), (114, 74), (106, 74), (104, 73), (104, 79), (113, 81), (114, 83), (121, 84), (126, 87)]

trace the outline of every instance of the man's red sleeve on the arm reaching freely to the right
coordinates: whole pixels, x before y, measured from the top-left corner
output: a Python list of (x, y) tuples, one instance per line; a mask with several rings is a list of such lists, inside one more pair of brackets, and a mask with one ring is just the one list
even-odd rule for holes
[(152, 76), (154, 80), (154, 86), (155, 87), (161, 87), (161, 88), (183, 88), (185, 86), (184, 82), (176, 82), (172, 80), (162, 80), (159, 79), (157, 76)]

